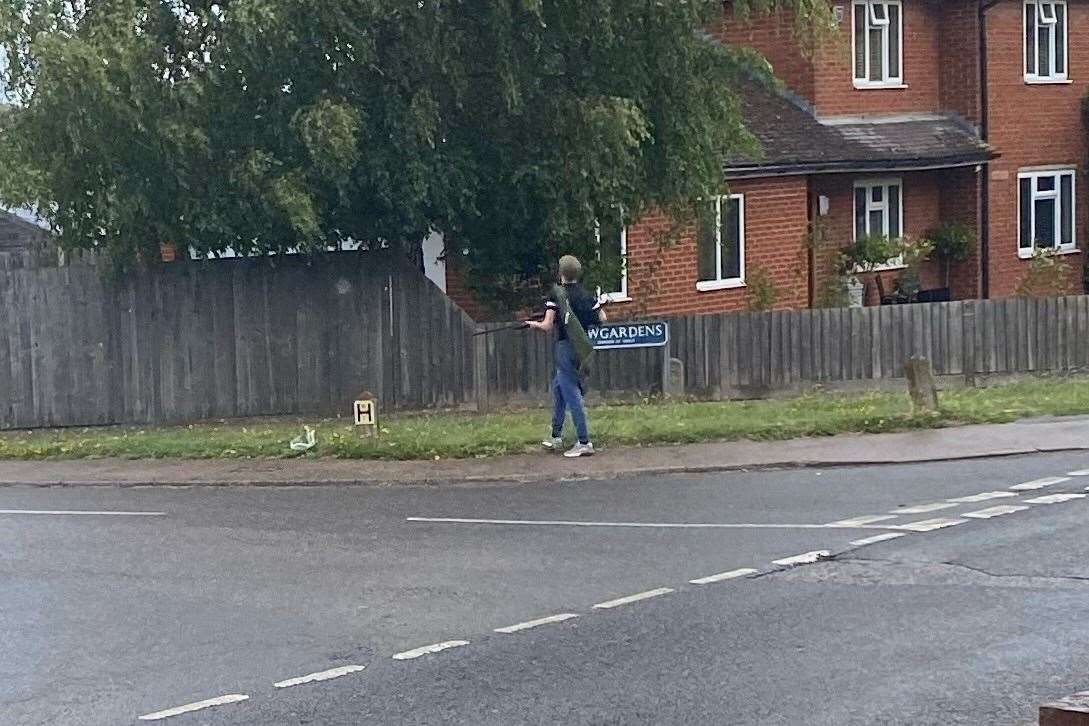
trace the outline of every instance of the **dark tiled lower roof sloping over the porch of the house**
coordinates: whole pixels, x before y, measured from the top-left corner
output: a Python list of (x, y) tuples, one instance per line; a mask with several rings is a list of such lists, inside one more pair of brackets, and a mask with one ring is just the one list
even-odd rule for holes
[(763, 153), (727, 158), (729, 176), (945, 169), (998, 156), (954, 113), (817, 116), (790, 91), (755, 79), (735, 90)]

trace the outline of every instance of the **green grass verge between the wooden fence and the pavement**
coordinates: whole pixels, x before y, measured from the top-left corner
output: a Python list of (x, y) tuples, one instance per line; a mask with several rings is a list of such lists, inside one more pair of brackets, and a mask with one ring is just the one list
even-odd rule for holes
[[(591, 433), (601, 445), (782, 440), (844, 432), (903, 431), (1030, 416), (1089, 413), (1089, 380), (1033, 379), (941, 394), (942, 410), (911, 414), (901, 393), (815, 393), (776, 401), (599, 406)], [(234, 458), (299, 456), (287, 444), (303, 423), (318, 445), (303, 456), (370, 459), (467, 458), (516, 454), (547, 433), (548, 411), (488, 416), (435, 413), (391, 416), (382, 435), (360, 439), (344, 420), (249, 419), (170, 427), (100, 427), (0, 433), (0, 458)]]

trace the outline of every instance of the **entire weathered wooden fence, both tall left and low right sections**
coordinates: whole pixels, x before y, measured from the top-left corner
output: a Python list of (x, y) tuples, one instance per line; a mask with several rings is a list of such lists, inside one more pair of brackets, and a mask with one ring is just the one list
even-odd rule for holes
[[(755, 397), (902, 378), (1089, 369), (1089, 297), (669, 318), (662, 348), (600, 350), (595, 397)], [(551, 336), (477, 327), (390, 250), (0, 274), (0, 428), (546, 403)]]

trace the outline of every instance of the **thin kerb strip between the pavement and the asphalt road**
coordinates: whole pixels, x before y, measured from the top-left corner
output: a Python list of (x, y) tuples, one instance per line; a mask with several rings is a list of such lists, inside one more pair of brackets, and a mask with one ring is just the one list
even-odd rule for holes
[[(33, 487), (33, 488), (64, 488), (64, 487), (113, 487), (113, 488), (137, 488), (137, 487), (265, 487), (265, 488), (287, 488), (287, 487), (456, 487), (474, 484), (533, 484), (533, 483), (560, 483), (576, 481), (614, 481), (619, 479), (629, 479), (636, 477), (654, 477), (669, 475), (700, 475), (700, 473), (729, 473), (732, 471), (770, 471), (783, 469), (813, 469), (813, 468), (837, 468), (855, 466), (895, 466), (904, 464), (928, 464), (935, 462), (964, 462), (981, 458), (999, 458), (1006, 456), (1024, 456), (1030, 454), (1049, 454), (1063, 452), (1089, 451), (1089, 442), (1079, 446), (1026, 446), (1024, 448), (996, 448), (971, 454), (950, 454), (950, 455), (926, 455), (926, 456), (903, 456), (885, 458), (859, 458), (859, 459), (787, 459), (782, 462), (760, 462), (751, 464), (712, 464), (712, 465), (673, 465), (658, 467), (628, 467), (609, 470), (577, 473), (571, 471), (539, 470), (533, 473), (494, 473), (494, 475), (462, 475), (462, 476), (417, 476), (417, 477), (376, 477), (376, 478), (325, 478), (314, 479), (299, 477), (297, 479), (277, 478), (213, 478), (213, 479), (154, 479), (148, 481), (110, 481), (102, 479), (0, 479), (0, 488), (8, 487)], [(360, 460), (360, 463), (365, 463)], [(134, 462), (134, 465), (137, 463)]]

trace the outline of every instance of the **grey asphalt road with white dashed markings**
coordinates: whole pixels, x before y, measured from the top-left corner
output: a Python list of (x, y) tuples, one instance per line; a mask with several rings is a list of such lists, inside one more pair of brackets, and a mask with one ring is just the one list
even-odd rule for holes
[(2, 488), (0, 724), (1020, 726), (1089, 688), (1082, 468)]

